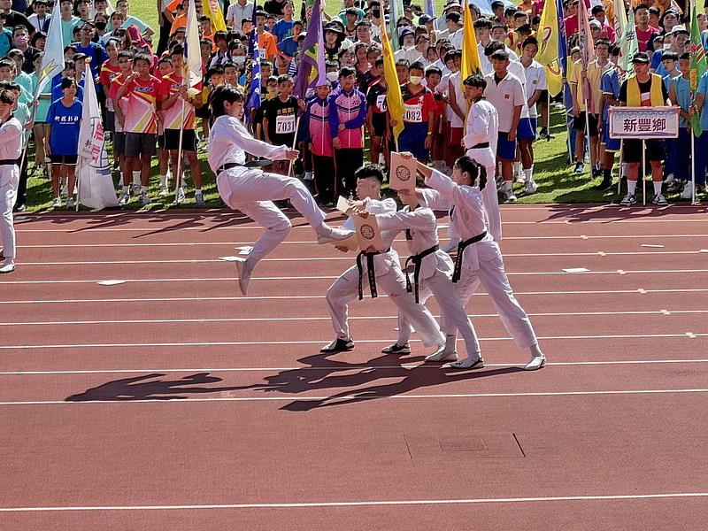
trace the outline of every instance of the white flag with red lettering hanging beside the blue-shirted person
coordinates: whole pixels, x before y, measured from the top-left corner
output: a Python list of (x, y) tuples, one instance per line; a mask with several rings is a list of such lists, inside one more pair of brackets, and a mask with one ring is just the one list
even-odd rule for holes
[[(86, 77), (90, 80), (91, 67), (86, 65)], [(79, 130), (79, 161), (76, 176), (79, 178), (79, 202), (89, 208), (100, 210), (106, 206), (118, 206), (113, 188), (111, 165), (104, 147), (104, 124), (96, 99), (96, 85), (84, 83), (83, 113)]]

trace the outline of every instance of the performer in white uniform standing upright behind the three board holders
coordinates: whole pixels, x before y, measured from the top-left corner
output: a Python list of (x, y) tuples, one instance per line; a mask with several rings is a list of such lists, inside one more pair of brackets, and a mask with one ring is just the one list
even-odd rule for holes
[[(471, 102), (467, 114), (465, 143), (466, 155), (473, 158), (487, 171), (487, 178), (495, 182), (496, 140), (499, 135), (499, 115), (494, 105), (484, 99), (487, 80), (481, 75), (471, 75), (465, 81), (465, 97)], [(487, 227), (495, 242), (502, 241), (502, 216), (499, 212), (499, 197), (494, 186), (482, 190), (484, 210), (487, 212)]]

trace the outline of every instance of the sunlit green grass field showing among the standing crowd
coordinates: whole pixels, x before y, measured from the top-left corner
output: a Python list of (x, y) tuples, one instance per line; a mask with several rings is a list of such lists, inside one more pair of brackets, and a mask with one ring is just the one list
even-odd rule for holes
[[(435, 0), (437, 12), (442, 11), (443, 0)], [(158, 31), (157, 12), (153, 2), (133, 3), (130, 7), (131, 14), (148, 23)], [(339, 3), (330, 2), (327, 4), (327, 12), (336, 14), (339, 12)], [(155, 42), (158, 42), (158, 35), (155, 35)], [(608, 192), (600, 192), (594, 187), (599, 180), (591, 181), (589, 175), (576, 175), (573, 167), (567, 164), (566, 149), (566, 127), (563, 112), (554, 110), (551, 115), (551, 133), (554, 138), (547, 142), (539, 140), (535, 142), (535, 181), (538, 184), (538, 191), (532, 196), (525, 196), (522, 187), (516, 185), (519, 203), (606, 203), (617, 200), (616, 187)], [(206, 165), (206, 154), (199, 155), (204, 173), (204, 199), (208, 206), (219, 207), (221, 201), (216, 189), (214, 176)], [(30, 167), (33, 156), (30, 156)], [(157, 161), (154, 163), (153, 174), (157, 174)], [(173, 196), (161, 198), (157, 196), (157, 178), (151, 180), (150, 197), (154, 203), (151, 209), (178, 208), (172, 204)], [(191, 182), (186, 183), (188, 189), (188, 200), (181, 205), (182, 208), (192, 208), (195, 206), (194, 197), (189, 193)], [(51, 187), (50, 181), (32, 177), (27, 183), (27, 208), (31, 211), (45, 211), (51, 209)], [(669, 198), (671, 199), (671, 198)], [(674, 197), (675, 199), (675, 197)], [(127, 208), (138, 209), (141, 205), (138, 202), (131, 202)]]

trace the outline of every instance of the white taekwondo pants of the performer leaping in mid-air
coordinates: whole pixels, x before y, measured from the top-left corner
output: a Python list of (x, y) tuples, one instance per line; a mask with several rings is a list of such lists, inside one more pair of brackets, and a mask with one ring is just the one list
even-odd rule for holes
[(318, 227), (325, 220), (325, 212), (319, 210), (312, 194), (293, 177), (256, 169), (232, 168), (219, 173), (216, 182), (224, 203), (266, 228), (254, 243), (249, 258), (265, 258), (292, 229), (288, 217), (273, 201), (289, 199), (312, 227)]

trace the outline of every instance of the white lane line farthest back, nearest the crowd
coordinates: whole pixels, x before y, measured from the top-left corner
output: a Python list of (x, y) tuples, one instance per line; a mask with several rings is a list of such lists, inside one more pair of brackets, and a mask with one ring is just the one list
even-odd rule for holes
[[(444, 219), (444, 218), (443, 218)], [(302, 221), (302, 224), (299, 224)], [(620, 223), (629, 223), (632, 225), (639, 225), (642, 223), (701, 223), (708, 222), (705, 216), (696, 216), (696, 218), (678, 218), (678, 219), (584, 219), (582, 221), (573, 220), (550, 220), (550, 221), (503, 221), (502, 225), (616, 225)], [(296, 219), (298, 225), (293, 228), (310, 228), (304, 219)], [(191, 230), (191, 231), (214, 231), (214, 230), (263, 230), (262, 227), (254, 225), (252, 227), (239, 226), (226, 226), (219, 227), (217, 224), (215, 227), (201, 226), (201, 227), (179, 227), (179, 225), (171, 225), (166, 227), (81, 227), (81, 228), (22, 228), (19, 224), (19, 228), (16, 229), (17, 232), (26, 233), (87, 233), (87, 232), (137, 232), (142, 231), (145, 233), (168, 233), (174, 232), (176, 230)]]

